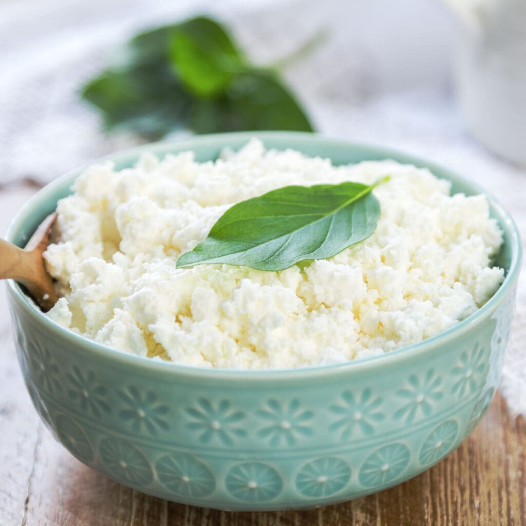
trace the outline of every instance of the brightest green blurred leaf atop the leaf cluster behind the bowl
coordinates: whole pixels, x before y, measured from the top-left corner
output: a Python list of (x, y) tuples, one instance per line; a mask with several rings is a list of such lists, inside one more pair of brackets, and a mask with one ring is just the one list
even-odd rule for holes
[(170, 57), (185, 86), (198, 97), (223, 92), (232, 75), (245, 69), (230, 35), (206, 17), (179, 25), (170, 37)]

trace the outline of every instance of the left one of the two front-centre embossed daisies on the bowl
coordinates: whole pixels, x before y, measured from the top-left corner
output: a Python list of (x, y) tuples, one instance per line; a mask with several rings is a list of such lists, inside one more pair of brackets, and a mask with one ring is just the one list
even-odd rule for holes
[(220, 400), (216, 404), (206, 398), (199, 398), (195, 406), (187, 408), (185, 412), (191, 419), (186, 428), (195, 431), (203, 443), (216, 440), (231, 446), (236, 437), (245, 437), (247, 434), (239, 425), (245, 419), (245, 414), (233, 409), (228, 400)]

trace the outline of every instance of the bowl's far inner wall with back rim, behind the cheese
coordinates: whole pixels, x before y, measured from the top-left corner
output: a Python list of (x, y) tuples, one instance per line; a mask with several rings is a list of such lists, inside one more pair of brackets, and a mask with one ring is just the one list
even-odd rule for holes
[[(264, 141), (267, 148), (292, 148), (309, 156), (327, 157), (335, 165), (359, 163), (363, 160), (393, 159), (399, 163), (429, 168), (437, 177), (452, 181), (453, 194), (485, 194), (489, 197), (491, 216), (498, 220), (504, 232), (504, 244), (497, 257), (495, 257), (495, 264), (508, 272), (512, 266), (512, 261), (518, 259), (519, 243), (517, 230), (510, 216), (502, 209), (493, 196), (489, 195), (487, 191), (480, 188), (476, 183), (466, 180), (446, 168), (434, 165), (427, 160), (386, 148), (353, 144), (347, 141), (302, 133), (233, 133), (200, 136), (175, 143), (166, 142), (141, 146), (110, 155), (105, 159), (114, 161), (116, 169), (123, 169), (133, 166), (140, 154), (145, 151), (164, 157), (167, 154), (193, 150), (196, 160), (204, 162), (216, 159), (222, 148), (241, 148), (252, 137), (259, 137)], [(52, 184), (39, 191), (17, 214), (7, 231), (7, 239), (18, 246), (24, 246), (38, 224), (46, 215), (55, 210), (57, 201), (72, 193), (70, 187), (83, 169), (74, 170), (56, 179)]]

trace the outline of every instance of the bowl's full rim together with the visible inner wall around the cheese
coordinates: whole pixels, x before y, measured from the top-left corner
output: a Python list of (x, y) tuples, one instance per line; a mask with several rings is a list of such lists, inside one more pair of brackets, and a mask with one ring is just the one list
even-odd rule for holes
[[(357, 163), (362, 160), (381, 160), (393, 159), (404, 164), (413, 164), (418, 167), (429, 168), (437, 177), (448, 179), (452, 182), (453, 193), (464, 193), (467, 195), (485, 194), (488, 196), (490, 203), (490, 214), (497, 219), (499, 225), (504, 233), (504, 244), (495, 257), (495, 264), (504, 268), (506, 277), (503, 284), (494, 296), (479, 310), (474, 312), (467, 319), (461, 321), (456, 326), (433, 336), (420, 343), (415, 343), (409, 347), (404, 347), (395, 351), (391, 351), (389, 355), (373, 356), (362, 358), (350, 363), (323, 365), (317, 367), (309, 367), (302, 369), (281, 369), (281, 370), (248, 370), (240, 375), (239, 371), (231, 369), (204, 369), (190, 366), (181, 366), (176, 363), (157, 363), (155, 360), (149, 358), (137, 357), (129, 355), (124, 351), (110, 349), (102, 346), (95, 341), (88, 340), (82, 336), (78, 336), (62, 327), (56, 325), (47, 316), (43, 315), (41, 311), (36, 309), (31, 299), (29, 299), (23, 292), (23, 288), (18, 286), (15, 282), (9, 280), (9, 287), (11, 287), (14, 295), (18, 298), (19, 303), (24, 307), (26, 313), (38, 325), (46, 326), (46, 330), (50, 330), (56, 337), (69, 341), (72, 345), (86, 348), (86, 352), (95, 352), (99, 356), (112, 357), (117, 361), (126, 361), (134, 365), (141, 365), (147, 367), (150, 371), (167, 371), (168, 369), (178, 373), (184, 372), (189, 377), (207, 377), (209, 379), (218, 379), (219, 377), (230, 378), (232, 375), (236, 378), (239, 376), (246, 377), (247, 381), (250, 377), (252, 380), (260, 378), (265, 381), (267, 376), (272, 373), (272, 376), (282, 378), (300, 378), (319, 376), (319, 373), (327, 373), (338, 369), (346, 370), (348, 367), (354, 369), (361, 369), (363, 367), (389, 367), (392, 360), (411, 360), (415, 353), (433, 352), (433, 345), (437, 339), (440, 341), (451, 341), (452, 339), (461, 335), (462, 332), (468, 330), (471, 323), (483, 316), (485, 312), (494, 309), (500, 305), (507, 291), (518, 278), (521, 262), (521, 244), (517, 228), (513, 224), (511, 217), (505, 212), (500, 204), (489, 195), (487, 191), (479, 187), (476, 183), (472, 183), (452, 171), (441, 166), (430, 163), (427, 160), (413, 157), (410, 155), (399, 153), (395, 150), (380, 148), (375, 146), (366, 146), (360, 144), (349, 143), (343, 140), (336, 140), (327, 137), (321, 137), (313, 134), (290, 133), (290, 132), (249, 132), (249, 133), (232, 133), (219, 134), (194, 137), (184, 141), (177, 141), (175, 143), (157, 143), (145, 145), (131, 150), (122, 151), (120, 153), (111, 155), (102, 160), (112, 160), (117, 169), (123, 169), (133, 166), (141, 153), (146, 151), (154, 153), (159, 157), (167, 154), (176, 154), (180, 151), (193, 150), (198, 161), (206, 161), (216, 159), (222, 148), (229, 147), (232, 149), (239, 149), (244, 146), (252, 137), (260, 138), (267, 148), (287, 149), (292, 148), (302, 151), (309, 156), (326, 157), (332, 160), (333, 164), (349, 164)], [(71, 193), (70, 187), (75, 178), (83, 172), (86, 167), (79, 168), (56, 179), (53, 183), (47, 185), (39, 191), (28, 203), (19, 211), (11, 226), (7, 231), (7, 239), (18, 246), (24, 246), (26, 241), (31, 237), (38, 224), (55, 208), (57, 201), (66, 197)]]

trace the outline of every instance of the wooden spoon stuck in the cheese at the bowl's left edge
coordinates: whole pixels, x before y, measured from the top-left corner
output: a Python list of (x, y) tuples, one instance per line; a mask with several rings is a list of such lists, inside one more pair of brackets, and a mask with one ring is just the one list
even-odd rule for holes
[(14, 279), (24, 285), (44, 312), (57, 302), (53, 278), (42, 258), (56, 218), (56, 212), (47, 216), (24, 249), (0, 239), (0, 279)]

